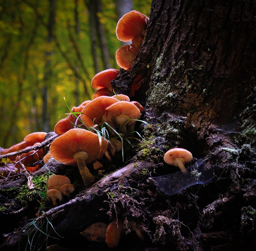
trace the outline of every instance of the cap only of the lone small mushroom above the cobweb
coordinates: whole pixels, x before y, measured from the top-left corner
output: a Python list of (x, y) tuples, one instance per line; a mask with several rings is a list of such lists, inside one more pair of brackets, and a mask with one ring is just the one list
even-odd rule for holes
[(185, 164), (186, 162), (191, 161), (193, 157), (192, 157), (191, 152), (189, 152), (188, 150), (183, 149), (183, 148), (170, 149), (165, 153), (165, 156), (163, 157), (164, 161), (167, 164), (172, 165), (172, 166), (177, 166), (174, 163), (174, 160), (176, 158), (183, 158), (184, 159), (183, 164)]

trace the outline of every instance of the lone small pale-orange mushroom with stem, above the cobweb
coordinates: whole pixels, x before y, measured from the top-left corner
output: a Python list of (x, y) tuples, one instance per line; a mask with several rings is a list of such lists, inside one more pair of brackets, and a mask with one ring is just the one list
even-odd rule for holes
[(192, 154), (186, 149), (183, 148), (173, 148), (165, 153), (163, 157), (164, 161), (172, 166), (178, 166), (181, 169), (182, 173), (187, 175), (189, 174), (186, 170), (184, 164), (192, 160)]

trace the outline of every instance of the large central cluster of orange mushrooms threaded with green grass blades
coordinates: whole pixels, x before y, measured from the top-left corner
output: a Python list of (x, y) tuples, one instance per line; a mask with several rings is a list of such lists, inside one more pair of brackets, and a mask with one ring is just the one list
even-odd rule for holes
[[(110, 96), (114, 93), (111, 81), (118, 73), (119, 70), (108, 69), (96, 74), (91, 85), (98, 91), (103, 90), (102, 93), (96, 91), (92, 101), (73, 107), (72, 112), (54, 127), (59, 137), (51, 144), (50, 154), (62, 164), (78, 166), (86, 186), (95, 181), (86, 165), (103, 156), (111, 161), (110, 155), (113, 157), (115, 152), (122, 150), (120, 135), (125, 137), (132, 133), (136, 120), (144, 112), (141, 104), (130, 102), (126, 95)], [(100, 136), (103, 128), (107, 132), (104, 138)]]

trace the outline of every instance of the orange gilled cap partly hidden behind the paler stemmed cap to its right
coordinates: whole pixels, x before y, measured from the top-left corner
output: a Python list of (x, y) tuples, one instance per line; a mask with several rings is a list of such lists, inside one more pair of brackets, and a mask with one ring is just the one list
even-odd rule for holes
[(117, 103), (118, 99), (101, 96), (93, 99), (82, 110), (81, 119), (86, 127), (93, 127), (94, 124), (101, 124), (102, 116), (106, 113), (105, 109), (111, 104)]

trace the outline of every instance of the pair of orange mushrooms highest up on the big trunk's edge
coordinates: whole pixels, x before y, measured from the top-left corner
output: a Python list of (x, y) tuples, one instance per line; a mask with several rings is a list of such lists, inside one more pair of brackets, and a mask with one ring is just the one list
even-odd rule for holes
[(117, 23), (117, 38), (123, 42), (132, 41), (119, 48), (115, 58), (117, 64), (128, 70), (131, 68), (135, 57), (138, 55), (147, 29), (149, 18), (139, 11), (133, 10), (122, 16)]

